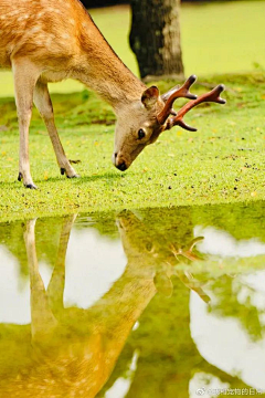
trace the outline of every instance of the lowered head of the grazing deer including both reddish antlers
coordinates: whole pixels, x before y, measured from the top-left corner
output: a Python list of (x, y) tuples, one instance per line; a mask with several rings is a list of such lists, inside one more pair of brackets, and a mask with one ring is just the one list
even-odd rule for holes
[[(140, 101), (134, 102), (132, 107), (128, 109), (128, 106), (124, 106), (119, 111), (113, 155), (115, 167), (125, 171), (147, 145), (155, 143), (162, 132), (171, 129), (173, 126), (178, 125), (195, 132), (195, 128), (188, 126), (183, 121), (183, 116), (192, 107), (203, 102), (225, 104), (225, 100), (220, 97), (224, 90), (222, 84), (199, 97), (191, 94), (189, 88), (195, 80), (197, 76), (192, 75), (181, 87), (176, 86), (161, 96), (158, 87), (151, 86), (144, 91)], [(177, 113), (172, 106), (174, 101), (180, 97), (192, 101)]]

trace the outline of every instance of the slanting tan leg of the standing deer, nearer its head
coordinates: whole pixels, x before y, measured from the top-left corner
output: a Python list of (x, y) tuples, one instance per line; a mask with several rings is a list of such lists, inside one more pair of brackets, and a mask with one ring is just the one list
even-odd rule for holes
[(71, 166), (68, 159), (65, 156), (62, 143), (57, 135), (57, 129), (54, 123), (54, 114), (52, 101), (47, 91), (47, 85), (36, 82), (34, 88), (34, 104), (38, 107), (50, 135), (61, 174), (66, 174), (68, 178), (78, 177), (74, 168)]

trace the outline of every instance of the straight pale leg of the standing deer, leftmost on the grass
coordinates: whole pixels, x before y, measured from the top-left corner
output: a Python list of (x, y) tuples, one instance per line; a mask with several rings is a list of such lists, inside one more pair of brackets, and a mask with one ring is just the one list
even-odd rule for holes
[(14, 95), (20, 130), (19, 181), (23, 179), (26, 188), (36, 189), (31, 172), (29, 159), (29, 128), (33, 105), (33, 91), (40, 72), (28, 60), (12, 61)]

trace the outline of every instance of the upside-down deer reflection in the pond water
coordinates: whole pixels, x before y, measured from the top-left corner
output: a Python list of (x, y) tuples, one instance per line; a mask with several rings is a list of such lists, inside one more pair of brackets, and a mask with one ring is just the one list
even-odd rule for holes
[(180, 255), (191, 261), (199, 259), (192, 249), (201, 238), (192, 241), (187, 250), (176, 249), (173, 242), (148, 233), (134, 213), (125, 211), (117, 217), (128, 260), (124, 274), (88, 310), (64, 307), (65, 258), (75, 217), (64, 219), (46, 290), (39, 272), (36, 220), (26, 222), (31, 341), (21, 343), (26, 345), (22, 349), (26, 353), (25, 364), (12, 380), (10, 376), (1, 380), (1, 397), (95, 397), (109, 378), (132, 326), (153, 295), (157, 291), (171, 295), (173, 274), (204, 301), (209, 300), (192, 275), (173, 266)]

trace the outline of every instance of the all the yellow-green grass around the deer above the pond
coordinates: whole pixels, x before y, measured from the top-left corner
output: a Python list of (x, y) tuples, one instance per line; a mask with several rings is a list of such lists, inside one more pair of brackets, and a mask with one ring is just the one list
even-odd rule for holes
[[(218, 21), (218, 17), (222, 17), (221, 11), (224, 12), (226, 9), (235, 27), (233, 15), (239, 13), (237, 7), (242, 10), (240, 13), (242, 23), (245, 21), (242, 15), (246, 18), (248, 14), (247, 29), (253, 28), (248, 41), (244, 41), (244, 49), (247, 52), (246, 49), (254, 38), (255, 46), (252, 45), (252, 51), (253, 54), (259, 54), (259, 57), (248, 55), (242, 59), (242, 63), (236, 63), (236, 51), (240, 54), (243, 45), (239, 45), (239, 42), (233, 44), (234, 61), (232, 56), (224, 56), (225, 43), (230, 44), (229, 53), (233, 48), (232, 40), (229, 43), (232, 31), (226, 32), (231, 21), (223, 18), (224, 42), (221, 49), (218, 45), (210, 45), (211, 34), (208, 34), (211, 31), (216, 32), (219, 23), (208, 25), (202, 23), (202, 21), (206, 23), (210, 15)], [(265, 29), (259, 27), (258, 22), (263, 9), (265, 10), (265, 2), (256, 1), (183, 7), (182, 36), (187, 71), (191, 71), (193, 50), (200, 48), (200, 56), (194, 56), (197, 63), (193, 64), (192, 71), (199, 74), (200, 71), (204, 71), (202, 76), (204, 75), (203, 82), (206, 84), (225, 83), (229, 88), (224, 94), (227, 105), (223, 107), (212, 104), (195, 108), (191, 115), (187, 115), (187, 122), (197, 126), (198, 133), (188, 133), (180, 128), (165, 133), (155, 145), (146, 148), (131, 168), (124, 174), (116, 170), (110, 163), (115, 118), (109, 106), (88, 91), (53, 94), (60, 136), (68, 157), (82, 160), (75, 167), (82, 178), (67, 180), (60, 176), (47, 133), (34, 109), (30, 154), (32, 176), (39, 190), (24, 189), (17, 181), (19, 134), (14, 102), (12, 98), (0, 98), (0, 220), (68, 213), (76, 210), (171, 207), (263, 199), (265, 74), (262, 65), (265, 63), (264, 52), (262, 53), (264, 43), (256, 40), (258, 31), (261, 34)], [(126, 13), (128, 17), (126, 8), (118, 10), (119, 13)], [(94, 12), (98, 25), (109, 19), (104, 10)], [(251, 18), (252, 12), (256, 14), (256, 19)], [(189, 28), (187, 21), (191, 20)], [(245, 40), (243, 32), (245, 25), (242, 23), (239, 22), (237, 28), (241, 28), (242, 40)], [(203, 27), (195, 28), (200, 24), (205, 25), (204, 33), (201, 31)], [(123, 38), (123, 41), (116, 43), (119, 51), (115, 50), (123, 60), (126, 61), (128, 56), (127, 63), (131, 64), (134, 70), (134, 60), (131, 61), (125, 40), (125, 25), (128, 28), (128, 20), (124, 25), (121, 23), (115, 25), (119, 27), (119, 34), (114, 31), (113, 24), (108, 24), (106, 30), (113, 38), (109, 36), (108, 40), (113, 43), (115, 36), (120, 40)], [(191, 29), (189, 42), (188, 28)], [(240, 36), (239, 31), (237, 34)], [(214, 33), (215, 43), (218, 38)], [(209, 40), (205, 41), (206, 39)], [(211, 62), (210, 55), (208, 62), (204, 62), (203, 52), (210, 54), (210, 50)], [(126, 55), (123, 56), (123, 53)], [(216, 62), (215, 66), (214, 62)], [(241, 70), (250, 69), (253, 62), (259, 65), (255, 72), (240, 73)], [(235, 73), (220, 73), (229, 70), (234, 70)], [(206, 78), (205, 74), (211, 72), (215, 75)], [(11, 93), (11, 87), (7, 74), (3, 74), (2, 78), (7, 78), (3, 92), (8, 95)], [(60, 91), (65, 92), (66, 88), (75, 91), (76, 86), (73, 84), (75, 83), (64, 83)], [(176, 82), (157, 82), (157, 84), (161, 91), (166, 91)], [(81, 90), (82, 86), (77, 88)], [(193, 92), (200, 94), (205, 90), (208, 88), (197, 85)]]

